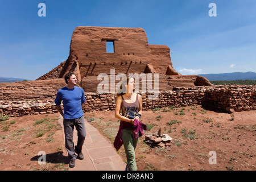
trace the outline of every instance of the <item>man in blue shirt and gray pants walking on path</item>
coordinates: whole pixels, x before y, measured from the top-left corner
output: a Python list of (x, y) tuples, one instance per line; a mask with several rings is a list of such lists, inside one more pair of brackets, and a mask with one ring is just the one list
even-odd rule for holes
[[(85, 103), (84, 90), (76, 85), (77, 79), (73, 72), (65, 75), (65, 82), (68, 84), (57, 92), (55, 104), (59, 113), (63, 116), (63, 126), (65, 133), (65, 147), (68, 151), (69, 167), (75, 167), (76, 159), (84, 159), (82, 154), (82, 145), (86, 137), (84, 125), (84, 113), (82, 106)], [(63, 101), (64, 112), (61, 109), (61, 101)], [(74, 126), (77, 130), (77, 145), (74, 147), (73, 130)], [(76, 156), (76, 154), (78, 156)]]

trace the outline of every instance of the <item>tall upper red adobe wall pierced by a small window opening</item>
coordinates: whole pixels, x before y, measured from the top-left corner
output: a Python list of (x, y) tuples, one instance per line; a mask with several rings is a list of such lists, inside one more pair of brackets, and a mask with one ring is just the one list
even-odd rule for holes
[[(106, 52), (107, 41), (114, 42), (114, 53)], [(152, 52), (162, 55), (160, 64), (151, 57)], [(143, 73), (147, 64), (165, 74), (171, 65), (170, 48), (148, 45), (143, 28), (77, 27), (71, 38), (69, 60), (79, 62), (81, 77), (110, 75), (110, 68), (116, 73)]]

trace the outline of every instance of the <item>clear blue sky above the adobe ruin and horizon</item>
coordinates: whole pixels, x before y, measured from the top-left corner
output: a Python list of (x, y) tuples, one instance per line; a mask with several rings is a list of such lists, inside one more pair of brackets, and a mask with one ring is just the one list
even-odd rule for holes
[(141, 27), (149, 44), (170, 47), (183, 75), (256, 72), (255, 10), (255, 0), (0, 0), (0, 77), (34, 80), (51, 71), (67, 60), (78, 26)]

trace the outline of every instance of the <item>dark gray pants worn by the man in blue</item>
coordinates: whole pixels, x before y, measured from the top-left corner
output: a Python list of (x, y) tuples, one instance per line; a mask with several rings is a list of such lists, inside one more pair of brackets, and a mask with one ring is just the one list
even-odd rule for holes
[(84, 125), (84, 116), (77, 119), (63, 119), (64, 133), (65, 133), (65, 147), (68, 151), (68, 158), (76, 159), (75, 146), (73, 142), (73, 131), (74, 126), (77, 130), (77, 145), (76, 152), (80, 153), (82, 151), (82, 145), (86, 137), (86, 130)]

